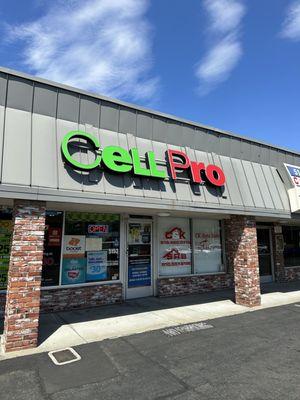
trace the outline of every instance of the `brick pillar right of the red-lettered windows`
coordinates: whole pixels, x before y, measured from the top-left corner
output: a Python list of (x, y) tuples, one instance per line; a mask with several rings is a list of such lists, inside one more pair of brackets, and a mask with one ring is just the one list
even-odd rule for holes
[(261, 304), (256, 222), (252, 217), (234, 215), (225, 221), (226, 255), (234, 275), (235, 301), (255, 307)]

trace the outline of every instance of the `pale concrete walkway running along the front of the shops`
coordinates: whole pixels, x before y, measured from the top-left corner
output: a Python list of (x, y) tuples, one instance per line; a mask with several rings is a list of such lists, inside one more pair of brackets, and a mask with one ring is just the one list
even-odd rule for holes
[(262, 305), (255, 308), (236, 305), (233, 291), (224, 290), (184, 297), (148, 297), (120, 305), (43, 314), (40, 345), (35, 349), (2, 353), (0, 360), (300, 303), (300, 282), (264, 285), (262, 293)]

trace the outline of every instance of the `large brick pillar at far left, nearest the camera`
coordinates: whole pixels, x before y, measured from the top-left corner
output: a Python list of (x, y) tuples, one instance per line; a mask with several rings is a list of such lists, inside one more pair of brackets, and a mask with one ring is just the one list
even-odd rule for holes
[(17, 200), (8, 271), (5, 351), (37, 346), (45, 231), (45, 203)]

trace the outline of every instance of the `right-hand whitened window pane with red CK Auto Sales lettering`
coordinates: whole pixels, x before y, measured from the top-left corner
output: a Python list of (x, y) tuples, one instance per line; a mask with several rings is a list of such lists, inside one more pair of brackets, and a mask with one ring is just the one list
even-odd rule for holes
[(194, 273), (223, 271), (220, 222), (193, 219)]

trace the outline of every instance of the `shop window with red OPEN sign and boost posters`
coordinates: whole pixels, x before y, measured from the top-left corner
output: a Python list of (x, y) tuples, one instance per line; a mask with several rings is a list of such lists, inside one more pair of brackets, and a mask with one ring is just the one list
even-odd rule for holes
[(119, 279), (120, 217), (66, 212), (61, 283)]

